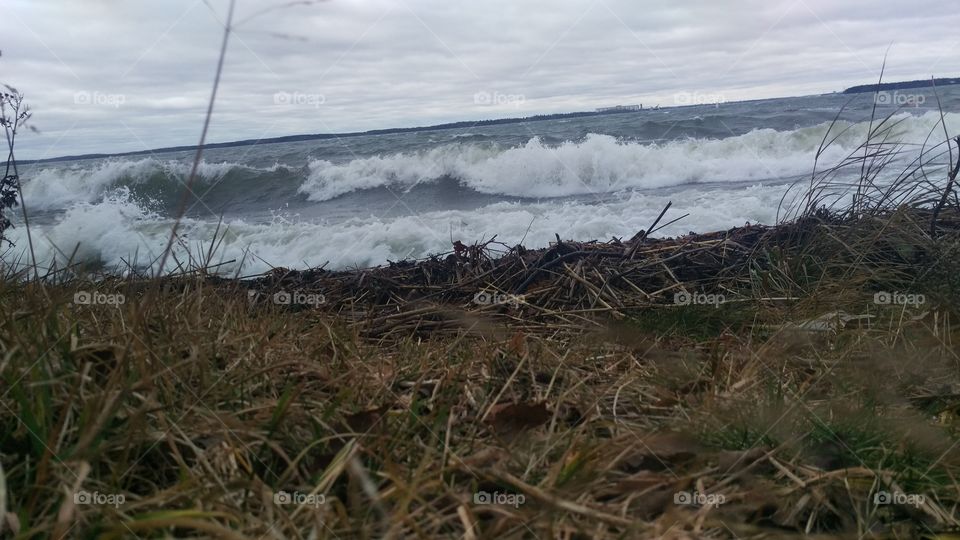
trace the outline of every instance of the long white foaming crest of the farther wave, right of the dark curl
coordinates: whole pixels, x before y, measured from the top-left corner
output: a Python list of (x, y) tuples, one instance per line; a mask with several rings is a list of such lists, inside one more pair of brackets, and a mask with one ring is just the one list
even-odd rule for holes
[[(898, 137), (921, 143), (939, 119), (934, 112), (898, 115)], [(960, 125), (960, 115), (948, 114), (947, 123)], [(358, 190), (408, 189), (449, 177), (481, 193), (544, 198), (784, 179), (811, 172), (828, 127), (829, 123), (789, 131), (756, 129), (726, 138), (664, 143), (590, 134), (579, 142), (548, 145), (535, 137), (514, 148), (452, 143), (346, 163), (313, 160), (299, 192), (311, 201), (325, 201)], [(834, 133), (844, 133), (821, 156), (822, 163), (839, 163), (866, 139), (868, 129), (866, 122), (835, 125)]]

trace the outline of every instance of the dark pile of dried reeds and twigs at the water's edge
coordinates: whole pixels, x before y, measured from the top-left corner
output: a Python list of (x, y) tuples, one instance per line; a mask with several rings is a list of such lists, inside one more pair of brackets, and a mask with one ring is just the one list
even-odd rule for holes
[[(758, 248), (797, 234), (799, 224), (747, 225), (675, 239), (557, 241), (548, 248), (489, 241), (420, 261), (353, 270), (282, 268), (249, 282), (251, 298), (276, 294), (295, 309), (297, 294), (322, 294), (319, 309), (338, 313), (365, 331), (437, 330), (473, 324), (470, 316), (506, 317), (520, 328), (583, 327), (599, 314), (674, 303), (674, 295), (734, 291), (757, 263)], [(283, 300), (281, 300), (283, 301)], [(466, 317), (467, 320), (464, 318)]]

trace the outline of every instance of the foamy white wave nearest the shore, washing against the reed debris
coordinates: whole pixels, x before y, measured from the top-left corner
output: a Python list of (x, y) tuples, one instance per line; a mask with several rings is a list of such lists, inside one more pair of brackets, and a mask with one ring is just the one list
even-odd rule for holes
[[(246, 275), (267, 271), (270, 265), (367, 267), (447, 252), (451, 240), (472, 243), (493, 235), (508, 245), (523, 241), (530, 248), (547, 246), (555, 234), (576, 239), (629, 238), (649, 227), (668, 200), (674, 201), (672, 216), (691, 216), (656, 234), (673, 236), (690, 230), (725, 229), (746, 221), (772, 223), (782, 195), (782, 186), (757, 185), (736, 190), (691, 188), (670, 196), (632, 193), (602, 205), (578, 201), (498, 202), (469, 211), (353, 218), (338, 223), (300, 221), (290, 216), (274, 216), (264, 223), (236, 218), (219, 226), (223, 240), (213, 263), (225, 262), (218, 268), (224, 274)], [(65, 258), (73, 255), (74, 263), (123, 271), (128, 262), (141, 268), (155, 264), (169, 239), (171, 225), (171, 219), (144, 208), (131, 198), (129, 190), (121, 189), (101, 202), (74, 205), (55, 224), (32, 229), (42, 267), (54, 261), (62, 267)], [(176, 259), (188, 260), (188, 249), (194, 255), (205, 252), (217, 229), (216, 222), (184, 218), (178, 232), (183, 242), (174, 246)], [(8, 233), (15, 247), (3, 254), (3, 260), (11, 266), (27, 264), (26, 228), (18, 224)], [(37, 238), (43, 241), (37, 242)], [(168, 259), (167, 270), (173, 270), (175, 264), (173, 257)]]

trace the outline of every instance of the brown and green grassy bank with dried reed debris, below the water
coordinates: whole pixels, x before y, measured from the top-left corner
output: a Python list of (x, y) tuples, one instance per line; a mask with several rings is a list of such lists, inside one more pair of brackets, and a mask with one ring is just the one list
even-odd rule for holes
[(960, 220), (930, 219), (5, 280), (3, 534), (946, 538)]

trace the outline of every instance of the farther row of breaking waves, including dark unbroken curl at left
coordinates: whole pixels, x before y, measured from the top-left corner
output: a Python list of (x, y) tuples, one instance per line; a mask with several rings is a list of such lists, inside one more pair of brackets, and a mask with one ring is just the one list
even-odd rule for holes
[[(900, 140), (922, 142), (939, 115), (904, 113), (897, 120)], [(960, 125), (960, 115), (948, 114), (947, 123)], [(725, 138), (667, 142), (599, 134), (562, 141), (545, 135), (519, 146), (464, 134), (456, 142), (429, 149), (337, 163), (313, 159), (305, 167), (201, 162), (195, 191), (203, 210), (262, 213), (296, 199), (321, 202), (356, 191), (409, 190), (443, 181), (487, 195), (530, 199), (779, 181), (811, 171), (827, 128), (828, 124), (784, 131), (757, 129)], [(662, 126), (657, 132), (668, 129)], [(834, 126), (834, 133), (843, 135), (821, 156), (821, 165), (847, 157), (866, 138), (867, 129), (867, 123)], [(905, 153), (903, 159), (909, 157)], [(23, 174), (24, 197), (34, 209), (59, 212), (81, 203), (102, 202), (126, 190), (123, 193), (132, 200), (169, 214), (180, 200), (190, 166), (187, 161), (153, 157), (34, 166)]]

